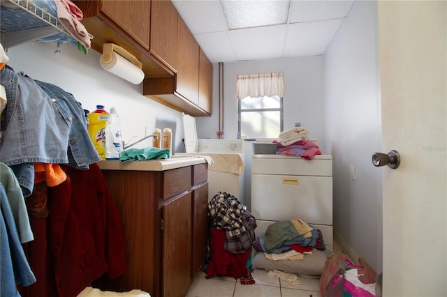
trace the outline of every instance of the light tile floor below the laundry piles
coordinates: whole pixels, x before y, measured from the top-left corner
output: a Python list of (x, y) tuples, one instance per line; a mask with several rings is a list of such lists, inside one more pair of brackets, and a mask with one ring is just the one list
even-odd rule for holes
[[(342, 251), (334, 242), (334, 252)], [(268, 276), (268, 271), (256, 269), (251, 273), (256, 284), (240, 284), (233, 277), (215, 276), (205, 279), (200, 271), (191, 284), (186, 297), (318, 297), (320, 293), (319, 278), (298, 276), (300, 286), (293, 286), (278, 277)]]

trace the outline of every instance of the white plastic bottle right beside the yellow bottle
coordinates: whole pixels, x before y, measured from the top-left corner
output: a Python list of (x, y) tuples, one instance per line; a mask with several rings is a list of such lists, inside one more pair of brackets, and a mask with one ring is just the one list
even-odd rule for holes
[(105, 124), (105, 160), (118, 160), (123, 150), (121, 121), (115, 107), (110, 108), (109, 120)]

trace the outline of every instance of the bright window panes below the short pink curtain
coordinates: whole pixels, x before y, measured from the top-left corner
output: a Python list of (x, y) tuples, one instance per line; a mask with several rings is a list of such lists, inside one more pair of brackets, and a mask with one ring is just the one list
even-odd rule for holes
[(279, 96), (237, 99), (237, 138), (277, 138), (283, 130), (283, 98)]

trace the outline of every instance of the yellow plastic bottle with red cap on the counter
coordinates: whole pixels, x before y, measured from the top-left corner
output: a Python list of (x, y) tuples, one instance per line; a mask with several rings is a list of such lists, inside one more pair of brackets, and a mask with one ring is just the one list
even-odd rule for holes
[(89, 118), (89, 137), (99, 156), (105, 160), (105, 123), (109, 119), (109, 113), (104, 105), (96, 105), (96, 110), (87, 114)]

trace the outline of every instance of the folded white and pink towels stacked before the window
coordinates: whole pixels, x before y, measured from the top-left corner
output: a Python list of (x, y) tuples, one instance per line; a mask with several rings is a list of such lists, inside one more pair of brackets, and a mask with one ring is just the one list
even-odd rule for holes
[(315, 155), (321, 155), (315, 142), (309, 141), (309, 130), (305, 127), (295, 127), (285, 130), (274, 140), (277, 144), (277, 155), (290, 155), (312, 160)]

